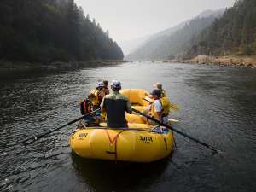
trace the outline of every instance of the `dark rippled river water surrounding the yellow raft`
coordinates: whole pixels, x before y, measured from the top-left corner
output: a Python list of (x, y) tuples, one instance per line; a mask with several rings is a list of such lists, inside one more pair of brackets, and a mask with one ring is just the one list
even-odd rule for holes
[[(175, 135), (177, 149), (151, 164), (83, 160), (70, 125), (23, 147), (26, 137), (79, 116), (99, 79), (152, 90), (161, 82), (180, 110), (177, 129), (223, 154)], [(132, 62), (9, 75), (0, 82), (0, 191), (256, 191), (256, 71), (239, 67)]]

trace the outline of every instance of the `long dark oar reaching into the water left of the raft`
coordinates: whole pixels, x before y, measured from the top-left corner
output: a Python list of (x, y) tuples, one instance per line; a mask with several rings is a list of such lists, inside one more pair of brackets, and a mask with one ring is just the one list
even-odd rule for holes
[(23, 143), (24, 145), (28, 145), (28, 144), (30, 144), (30, 143), (33, 143), (33, 142), (35, 142), (36, 140), (38, 140), (39, 138), (48, 135), (49, 133), (52, 133), (52, 132), (54, 132), (54, 131), (58, 131), (58, 130), (60, 130), (60, 129), (66, 127), (67, 125), (72, 125), (73, 123), (79, 121), (80, 119), (84, 119), (85, 117), (90, 116), (91, 114), (96, 113), (97, 111), (100, 111), (100, 110), (101, 110), (101, 108), (98, 108), (98, 109), (96, 109), (95, 111), (92, 111), (92, 112), (90, 112), (90, 113), (84, 114), (83, 116), (79, 117), (78, 119), (73, 119), (72, 121), (68, 122), (68, 123), (65, 124), (65, 125), (61, 125), (60, 127), (56, 128), (56, 129), (54, 129), (54, 130), (51, 130), (51, 131), (48, 131), (48, 132), (44, 132), (44, 133), (38, 134), (38, 135), (36, 135), (36, 136), (34, 136), (34, 137), (27, 138), (27, 139), (23, 140), (22, 143)]

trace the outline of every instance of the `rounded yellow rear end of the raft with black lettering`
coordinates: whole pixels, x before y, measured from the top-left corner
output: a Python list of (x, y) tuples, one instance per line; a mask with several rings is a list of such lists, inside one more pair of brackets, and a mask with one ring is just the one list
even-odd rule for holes
[(89, 127), (74, 131), (69, 140), (83, 158), (152, 162), (172, 152), (173, 134), (166, 128), (129, 124), (129, 128)]

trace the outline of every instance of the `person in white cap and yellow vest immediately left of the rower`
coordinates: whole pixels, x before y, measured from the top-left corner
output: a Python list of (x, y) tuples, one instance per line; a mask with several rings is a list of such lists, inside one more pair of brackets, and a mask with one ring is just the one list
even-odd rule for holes
[(101, 102), (103, 97), (105, 96), (105, 92), (104, 92), (104, 84), (103, 82), (98, 82), (96, 89), (95, 90), (91, 90), (90, 94), (88, 96), (88, 98), (91, 98), (91, 102), (92, 102), (92, 110), (96, 110), (98, 108), (100, 108)]

